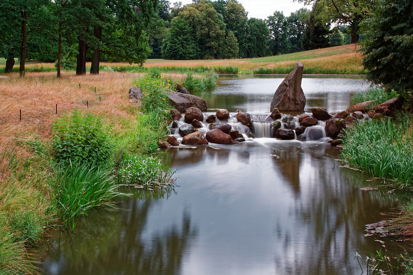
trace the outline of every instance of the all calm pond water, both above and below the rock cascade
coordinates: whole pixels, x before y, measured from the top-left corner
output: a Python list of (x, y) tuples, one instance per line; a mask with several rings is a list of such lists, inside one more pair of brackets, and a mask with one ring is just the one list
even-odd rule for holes
[[(199, 93), (209, 108), (268, 112), (285, 76), (224, 76)], [(304, 78), (306, 110), (344, 110), (368, 89), (354, 78)], [(74, 233), (55, 228), (33, 253), (44, 274), (359, 275), (356, 251), (382, 249), (395, 264), (411, 244), (366, 235), (411, 196), (340, 166), (340, 150), (320, 141), (271, 138), (169, 148), (176, 186), (128, 189), (118, 208), (97, 209)], [(365, 236), (366, 235), (366, 236)], [(364, 260), (361, 261), (365, 267)]]

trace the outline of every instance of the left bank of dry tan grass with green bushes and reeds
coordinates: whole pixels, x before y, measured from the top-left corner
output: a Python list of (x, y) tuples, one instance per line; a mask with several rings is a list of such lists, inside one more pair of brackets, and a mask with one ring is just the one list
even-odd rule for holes
[[(168, 167), (148, 155), (166, 136), (163, 110), (172, 81), (156, 72), (11, 76), (0, 80), (0, 273), (32, 274), (38, 270), (27, 249), (51, 225), (74, 230), (79, 215), (122, 195), (116, 184), (173, 182)], [(127, 96), (135, 85), (150, 95), (142, 106)], [(114, 178), (119, 169), (122, 176)]]

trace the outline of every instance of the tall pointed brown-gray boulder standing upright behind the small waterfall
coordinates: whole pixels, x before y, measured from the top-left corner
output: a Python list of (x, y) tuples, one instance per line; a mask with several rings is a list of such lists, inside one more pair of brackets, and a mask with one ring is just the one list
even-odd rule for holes
[(304, 64), (298, 61), (297, 66), (294, 67), (292, 72), (278, 86), (277, 91), (275, 91), (270, 111), (274, 108), (278, 108), (280, 111), (304, 110), (306, 97), (304, 96), (303, 89), (301, 89), (303, 70)]

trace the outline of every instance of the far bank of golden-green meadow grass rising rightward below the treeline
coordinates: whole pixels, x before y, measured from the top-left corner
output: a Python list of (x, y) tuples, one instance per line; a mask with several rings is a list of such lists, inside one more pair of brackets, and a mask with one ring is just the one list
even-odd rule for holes
[[(315, 49), (311, 51), (281, 54), (253, 59), (220, 59), (220, 60), (165, 60), (148, 59), (142, 67), (128, 63), (100, 62), (100, 71), (117, 71), (145, 73), (157, 67), (162, 73), (225, 73), (225, 74), (287, 74), (297, 64), (304, 63), (304, 74), (366, 74), (368, 71), (361, 65), (362, 57), (356, 52), (357, 46), (343, 45), (337, 47)], [(3, 62), (4, 63), (4, 62)], [(13, 71), (18, 72), (16, 62)], [(55, 71), (54, 63), (38, 63), (29, 61), (28, 72)], [(86, 63), (86, 71), (90, 70), (90, 62)], [(4, 74), (4, 65), (0, 63), (0, 73)]]

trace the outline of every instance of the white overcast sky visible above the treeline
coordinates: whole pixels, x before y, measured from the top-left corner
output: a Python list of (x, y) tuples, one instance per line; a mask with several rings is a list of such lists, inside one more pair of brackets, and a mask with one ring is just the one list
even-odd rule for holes
[[(191, 4), (192, 0), (170, 0), (173, 2), (180, 1), (183, 5)], [(304, 4), (292, 2), (292, 0), (238, 0), (245, 10), (248, 12), (248, 17), (255, 17), (266, 19), (268, 16), (273, 15), (276, 10), (284, 12), (284, 15), (289, 16), (291, 12), (295, 12), (297, 9), (304, 7)], [(172, 5), (171, 5), (172, 6)], [(307, 6), (311, 8), (311, 6)]]

